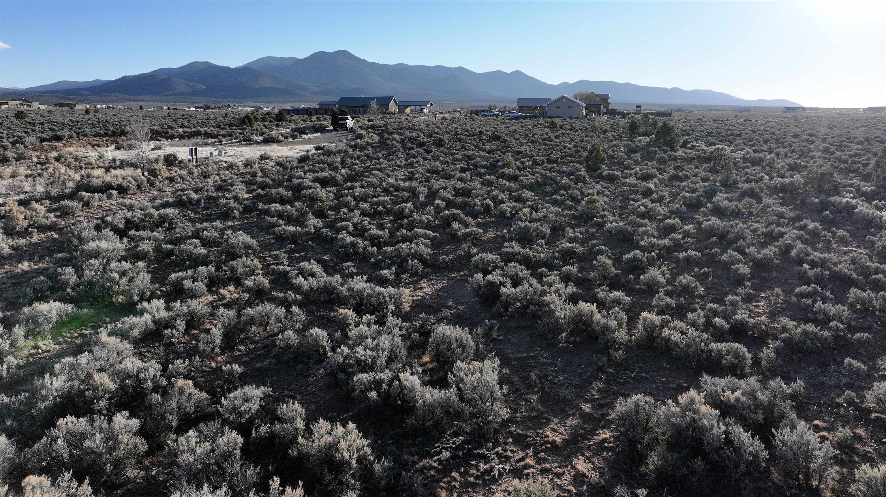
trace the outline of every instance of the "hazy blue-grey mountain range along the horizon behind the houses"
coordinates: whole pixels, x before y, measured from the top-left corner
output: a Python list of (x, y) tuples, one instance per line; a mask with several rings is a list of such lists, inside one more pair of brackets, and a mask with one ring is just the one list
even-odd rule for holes
[[(379, 64), (347, 50), (318, 51), (306, 58), (262, 57), (237, 67), (195, 61), (116, 80), (53, 82), (23, 89), (14, 97), (25, 92), (27, 97), (43, 101), (311, 103), (341, 96), (394, 95), (400, 100), (431, 99), (439, 105), (442, 101), (513, 102), (517, 97), (554, 97), (588, 90), (609, 93), (612, 102), (638, 104), (797, 105), (784, 99), (746, 100), (710, 89), (587, 80), (549, 84), (522, 71), (476, 73), (462, 66)], [(0, 89), (0, 94), (6, 93)]]

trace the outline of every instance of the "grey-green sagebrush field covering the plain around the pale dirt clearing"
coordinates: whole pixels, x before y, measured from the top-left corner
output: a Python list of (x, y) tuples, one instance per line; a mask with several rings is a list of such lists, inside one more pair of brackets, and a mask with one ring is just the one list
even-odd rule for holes
[(0, 113), (7, 495), (886, 494), (886, 119), (133, 115)]

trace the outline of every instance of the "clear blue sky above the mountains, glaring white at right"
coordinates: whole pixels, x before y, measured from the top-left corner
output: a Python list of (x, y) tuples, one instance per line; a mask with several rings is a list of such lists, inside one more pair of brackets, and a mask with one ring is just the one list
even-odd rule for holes
[[(883, 2), (3, 0), (0, 86), (349, 50), (374, 62), (519, 69), (545, 82), (886, 105)], [(26, 13), (27, 12), (27, 13)]]

